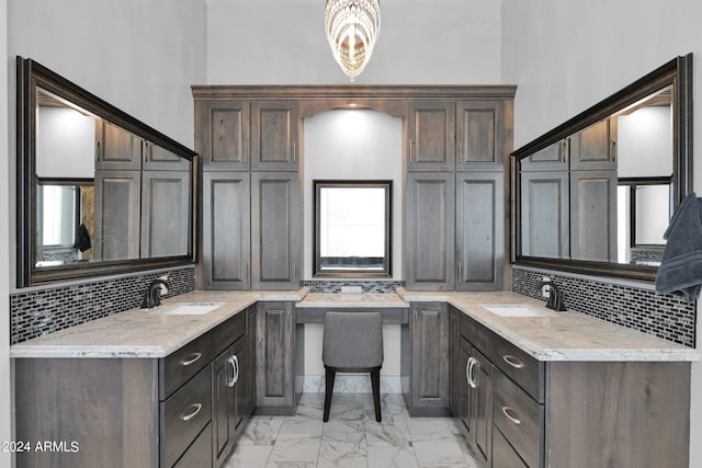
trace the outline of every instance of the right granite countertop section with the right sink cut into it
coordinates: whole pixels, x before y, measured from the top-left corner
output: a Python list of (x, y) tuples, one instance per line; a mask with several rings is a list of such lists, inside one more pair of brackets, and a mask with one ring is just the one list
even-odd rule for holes
[[(454, 293), (398, 289), (406, 301), (446, 301), (540, 361), (699, 361), (698, 350), (631, 330), (585, 313), (556, 312), (509, 292)], [(520, 304), (544, 317), (500, 317), (482, 305)]]

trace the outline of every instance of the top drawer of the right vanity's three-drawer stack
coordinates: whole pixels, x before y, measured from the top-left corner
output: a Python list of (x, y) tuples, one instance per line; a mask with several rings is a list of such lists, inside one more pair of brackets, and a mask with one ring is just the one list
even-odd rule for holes
[(492, 362), (524, 391), (540, 403), (544, 402), (544, 363), (518, 346), (494, 334)]

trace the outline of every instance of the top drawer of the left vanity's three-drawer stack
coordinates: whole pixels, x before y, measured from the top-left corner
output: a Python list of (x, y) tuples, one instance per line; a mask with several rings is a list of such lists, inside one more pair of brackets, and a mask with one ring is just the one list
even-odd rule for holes
[(197, 374), (215, 357), (213, 334), (205, 333), (183, 347), (159, 359), (159, 400), (166, 400), (173, 391)]

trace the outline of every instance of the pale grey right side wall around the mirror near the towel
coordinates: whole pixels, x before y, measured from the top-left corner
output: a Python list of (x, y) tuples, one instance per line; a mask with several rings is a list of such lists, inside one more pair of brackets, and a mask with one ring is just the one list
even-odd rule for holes
[[(699, 0), (503, 0), (502, 81), (517, 83), (516, 148), (678, 55), (694, 53), (702, 91)], [(702, 106), (694, 105), (702, 136)], [(702, 194), (702, 147), (694, 150)], [(698, 343), (702, 343), (698, 327)], [(692, 365), (690, 466), (702, 466), (702, 364)]]

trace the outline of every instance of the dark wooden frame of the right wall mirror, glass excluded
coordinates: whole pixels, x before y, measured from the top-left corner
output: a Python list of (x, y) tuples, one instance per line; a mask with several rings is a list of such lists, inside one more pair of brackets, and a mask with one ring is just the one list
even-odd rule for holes
[(511, 261), (514, 264), (600, 276), (655, 281), (657, 267), (621, 263), (523, 256), (521, 252), (520, 160), (553, 145), (618, 111), (672, 85), (672, 203), (692, 191), (692, 54), (677, 57), (600, 103), (576, 115), (512, 152), (511, 158)]

